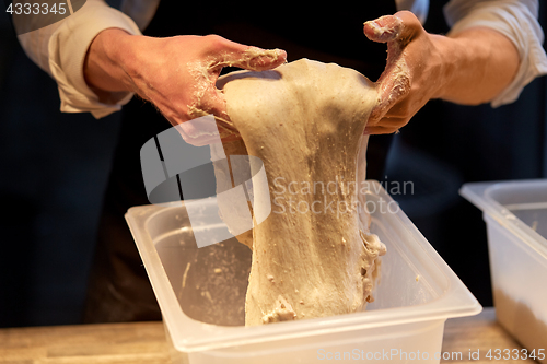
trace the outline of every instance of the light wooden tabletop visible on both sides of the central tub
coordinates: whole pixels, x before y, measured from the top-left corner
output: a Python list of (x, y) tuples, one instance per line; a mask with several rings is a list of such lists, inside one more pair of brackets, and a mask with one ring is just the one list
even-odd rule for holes
[[(453, 357), (441, 363), (534, 363), (488, 360), (485, 355), (490, 349), (521, 349), (496, 322), (493, 308), (446, 321), (443, 352)], [(480, 360), (469, 360), (469, 350), (472, 353), (479, 350)], [(0, 329), (0, 364), (84, 363), (171, 364), (163, 324)]]

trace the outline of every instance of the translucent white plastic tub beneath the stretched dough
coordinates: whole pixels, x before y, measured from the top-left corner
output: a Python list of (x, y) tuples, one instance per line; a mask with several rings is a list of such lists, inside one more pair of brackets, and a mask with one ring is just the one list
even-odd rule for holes
[[(232, 238), (198, 249), (181, 202), (131, 208), (126, 219), (164, 316), (173, 363), (439, 363), (444, 321), (481, 306), (381, 185), (371, 183), (370, 191), (377, 207), (372, 231), (387, 246), (376, 301), (362, 313), (259, 327), (243, 326), (246, 246)], [(211, 203), (198, 203), (203, 214), (212, 211)]]

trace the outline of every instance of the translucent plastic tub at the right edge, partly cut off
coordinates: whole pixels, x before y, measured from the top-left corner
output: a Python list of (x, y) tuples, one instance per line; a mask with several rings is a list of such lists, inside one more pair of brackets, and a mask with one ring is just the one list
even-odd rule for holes
[(547, 363), (547, 180), (466, 184), (487, 223), (500, 324)]

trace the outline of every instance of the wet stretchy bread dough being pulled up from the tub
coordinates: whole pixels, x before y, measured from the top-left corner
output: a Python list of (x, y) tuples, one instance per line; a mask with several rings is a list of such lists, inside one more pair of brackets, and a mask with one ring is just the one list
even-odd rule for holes
[(362, 310), (385, 254), (358, 193), (374, 84), (354, 70), (302, 59), (230, 73), (219, 86), (244, 141), (225, 145), (226, 154), (246, 149), (261, 158), (269, 193), (255, 190), (255, 212), (271, 202), (253, 230), (246, 325)]

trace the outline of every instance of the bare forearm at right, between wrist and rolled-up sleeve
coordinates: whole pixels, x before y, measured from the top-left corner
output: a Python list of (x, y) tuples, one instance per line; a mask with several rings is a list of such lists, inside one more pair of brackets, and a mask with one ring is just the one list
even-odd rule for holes
[(519, 51), (501, 33), (468, 28), (452, 37), (433, 36), (445, 64), (437, 98), (465, 105), (490, 102), (513, 80)]

